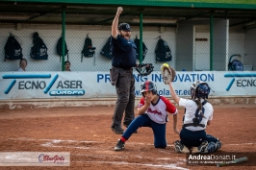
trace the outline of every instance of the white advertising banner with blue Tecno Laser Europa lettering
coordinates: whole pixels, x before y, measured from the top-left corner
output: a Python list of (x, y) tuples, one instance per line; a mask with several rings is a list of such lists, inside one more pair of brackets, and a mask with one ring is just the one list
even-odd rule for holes
[[(116, 97), (109, 72), (0, 72), (0, 99), (100, 98)], [(170, 96), (160, 72), (140, 77), (134, 71), (136, 96), (141, 96), (141, 83), (155, 82), (160, 95)], [(210, 96), (256, 95), (256, 71), (180, 71), (173, 86), (179, 96), (190, 96), (196, 80), (211, 87)]]

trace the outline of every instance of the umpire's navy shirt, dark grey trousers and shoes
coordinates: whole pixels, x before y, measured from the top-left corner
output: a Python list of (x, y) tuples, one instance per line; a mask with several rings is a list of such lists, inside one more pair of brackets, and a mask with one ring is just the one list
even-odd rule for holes
[(121, 36), (111, 38), (112, 69), (118, 74), (115, 90), (117, 101), (113, 115), (112, 130), (116, 134), (123, 134), (121, 120), (125, 111), (123, 125), (128, 125), (135, 118), (135, 79), (133, 68), (136, 66), (136, 45)]

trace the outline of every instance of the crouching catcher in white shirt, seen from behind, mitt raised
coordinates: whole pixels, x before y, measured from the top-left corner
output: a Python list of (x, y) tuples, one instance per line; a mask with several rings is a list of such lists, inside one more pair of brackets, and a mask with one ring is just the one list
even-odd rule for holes
[(180, 133), (180, 141), (174, 142), (174, 149), (178, 153), (212, 153), (218, 151), (221, 143), (218, 138), (206, 134), (206, 126), (209, 126), (213, 120), (213, 106), (206, 100), (210, 93), (210, 86), (201, 81), (196, 81), (191, 86), (192, 99), (184, 99), (177, 96), (172, 86), (172, 81), (176, 75), (175, 70), (162, 65), (162, 74), (164, 83), (169, 85), (173, 100), (179, 105), (185, 107), (183, 117), (183, 127)]

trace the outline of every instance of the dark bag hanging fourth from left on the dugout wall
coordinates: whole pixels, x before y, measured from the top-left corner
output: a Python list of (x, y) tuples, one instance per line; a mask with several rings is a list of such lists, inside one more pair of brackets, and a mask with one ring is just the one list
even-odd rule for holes
[(94, 64), (95, 64), (95, 49), (96, 49), (96, 47), (92, 46), (90, 37), (87, 36), (86, 40), (85, 40), (84, 48), (82, 50), (81, 62), (83, 61), (83, 56), (86, 58), (94, 57)]

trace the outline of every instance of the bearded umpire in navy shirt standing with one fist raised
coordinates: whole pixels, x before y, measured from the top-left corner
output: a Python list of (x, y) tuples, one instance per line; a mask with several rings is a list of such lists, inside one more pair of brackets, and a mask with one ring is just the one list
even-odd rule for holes
[(123, 126), (128, 127), (135, 118), (135, 79), (132, 67), (137, 65), (136, 45), (131, 39), (130, 25), (127, 23), (118, 25), (119, 15), (122, 11), (121, 7), (117, 8), (111, 37), (111, 83), (115, 85), (117, 94), (111, 129), (115, 134), (123, 134), (121, 126), (123, 112), (125, 112)]

